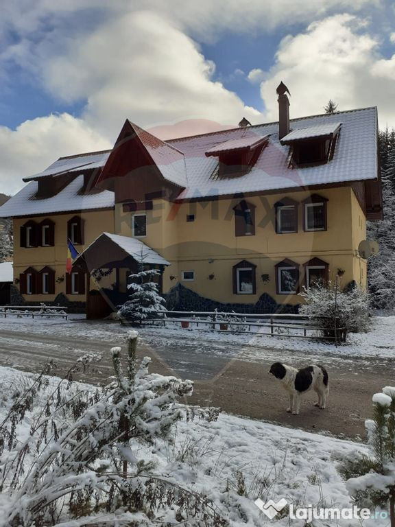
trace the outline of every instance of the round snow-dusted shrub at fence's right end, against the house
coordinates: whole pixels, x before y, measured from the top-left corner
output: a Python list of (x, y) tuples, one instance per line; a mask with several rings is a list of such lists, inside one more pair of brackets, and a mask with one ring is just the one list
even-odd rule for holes
[(370, 328), (369, 295), (357, 286), (342, 291), (331, 283), (318, 283), (304, 288), (300, 296), (305, 302), (300, 306), (300, 314), (316, 320), (326, 336), (333, 338), (335, 320), (336, 327), (344, 329), (345, 333)]

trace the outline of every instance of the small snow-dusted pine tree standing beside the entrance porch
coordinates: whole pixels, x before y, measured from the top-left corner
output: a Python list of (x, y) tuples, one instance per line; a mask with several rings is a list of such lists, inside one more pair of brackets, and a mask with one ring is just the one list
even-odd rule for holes
[(134, 323), (140, 323), (155, 317), (158, 312), (166, 311), (165, 298), (158, 293), (158, 283), (153, 279), (160, 274), (157, 269), (145, 269), (144, 255), (140, 257), (140, 271), (130, 274), (131, 283), (128, 288), (132, 290), (130, 300), (119, 309), (119, 316)]

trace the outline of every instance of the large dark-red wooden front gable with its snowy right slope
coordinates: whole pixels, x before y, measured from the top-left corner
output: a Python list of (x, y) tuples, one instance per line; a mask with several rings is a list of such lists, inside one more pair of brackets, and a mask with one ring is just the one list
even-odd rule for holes
[(97, 184), (144, 167), (156, 167), (164, 180), (187, 187), (184, 154), (127, 119)]

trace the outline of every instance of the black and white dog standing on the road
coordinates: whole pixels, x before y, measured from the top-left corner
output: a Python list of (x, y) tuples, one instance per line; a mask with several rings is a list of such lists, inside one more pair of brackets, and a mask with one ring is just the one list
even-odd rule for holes
[(329, 394), (329, 378), (328, 372), (323, 366), (307, 366), (307, 368), (297, 370), (292, 366), (287, 366), (287, 364), (274, 362), (270, 366), (269, 373), (272, 373), (274, 377), (279, 379), (285, 390), (289, 393), (289, 408), (287, 412), (298, 415), (300, 410), (300, 395), (310, 390), (318, 393), (318, 403), (315, 403), (315, 406), (322, 409), (326, 407)]

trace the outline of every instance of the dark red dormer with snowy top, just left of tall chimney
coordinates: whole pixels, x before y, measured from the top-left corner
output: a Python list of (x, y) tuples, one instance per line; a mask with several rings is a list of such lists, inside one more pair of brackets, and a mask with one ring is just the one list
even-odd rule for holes
[(250, 171), (267, 145), (268, 136), (248, 134), (241, 139), (230, 139), (211, 148), (206, 157), (218, 158), (218, 176), (242, 176)]

